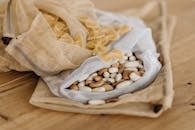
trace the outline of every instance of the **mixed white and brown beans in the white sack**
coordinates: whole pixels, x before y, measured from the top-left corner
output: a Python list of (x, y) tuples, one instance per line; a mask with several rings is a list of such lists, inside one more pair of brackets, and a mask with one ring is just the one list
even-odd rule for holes
[[(131, 51), (108, 68), (103, 68), (91, 75), (83, 75), (74, 82), (69, 89), (85, 92), (107, 92), (114, 89), (128, 87), (139, 80), (145, 70), (141, 60)], [(89, 101), (89, 104), (103, 104), (105, 101)]]

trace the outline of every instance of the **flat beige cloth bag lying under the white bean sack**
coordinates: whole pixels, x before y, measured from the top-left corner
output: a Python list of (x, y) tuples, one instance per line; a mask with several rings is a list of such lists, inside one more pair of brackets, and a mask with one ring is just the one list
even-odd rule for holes
[(169, 44), (175, 25), (175, 18), (167, 17), (165, 3), (158, 1), (152, 1), (141, 9), (130, 9), (121, 12), (143, 18), (153, 30), (156, 46), (161, 53), (160, 59), (163, 63), (163, 67), (154, 82), (145, 89), (120, 96), (117, 102), (94, 106), (56, 97), (40, 79), (30, 99), (31, 104), (64, 112), (124, 114), (153, 118), (158, 117), (163, 111), (171, 107), (174, 91)]

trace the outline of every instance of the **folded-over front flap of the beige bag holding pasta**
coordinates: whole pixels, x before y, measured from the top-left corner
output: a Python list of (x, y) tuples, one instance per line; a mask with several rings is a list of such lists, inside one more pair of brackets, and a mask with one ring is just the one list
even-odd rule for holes
[(90, 56), (84, 48), (58, 41), (41, 13), (30, 30), (13, 39), (6, 51), (41, 76), (75, 68)]

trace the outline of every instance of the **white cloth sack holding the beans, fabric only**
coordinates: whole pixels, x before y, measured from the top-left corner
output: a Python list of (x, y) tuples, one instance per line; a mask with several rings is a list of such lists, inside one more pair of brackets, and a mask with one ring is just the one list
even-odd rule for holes
[(69, 98), (74, 101), (86, 103), (92, 99), (109, 99), (126, 93), (134, 92), (147, 87), (156, 77), (161, 69), (158, 61), (151, 29), (138, 18), (126, 17), (120, 14), (113, 14), (97, 10), (98, 22), (101, 25), (127, 24), (131, 31), (110, 45), (110, 49), (117, 48), (123, 53), (132, 51), (144, 64), (145, 73), (143, 77), (131, 84), (129, 87), (115, 89), (108, 92), (82, 92), (67, 89), (73, 82), (79, 80), (83, 75), (90, 75), (102, 68), (109, 67), (115, 61), (105, 62), (99, 56), (90, 57), (75, 70), (67, 70), (56, 76), (42, 77), (49, 86), (51, 92), (56, 96)]

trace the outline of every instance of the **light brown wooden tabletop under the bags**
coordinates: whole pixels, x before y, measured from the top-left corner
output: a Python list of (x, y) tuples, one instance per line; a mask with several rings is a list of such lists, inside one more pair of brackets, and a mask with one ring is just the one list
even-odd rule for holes
[[(145, 0), (93, 0), (111, 11), (140, 6)], [(132, 1), (134, 1), (132, 3)], [(0, 73), (0, 130), (195, 130), (195, 1), (168, 0), (178, 17), (171, 61), (175, 98), (160, 118), (62, 113), (28, 103), (38, 77), (32, 73)]]

